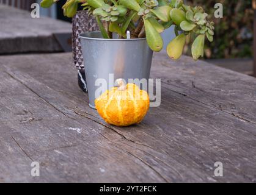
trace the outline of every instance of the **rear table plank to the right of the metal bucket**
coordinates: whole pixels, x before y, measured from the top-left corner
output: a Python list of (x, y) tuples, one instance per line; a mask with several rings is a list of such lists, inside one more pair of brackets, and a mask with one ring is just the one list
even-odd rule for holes
[(254, 77), (192, 62), (189, 57), (170, 61), (164, 53), (157, 55), (153, 63), (158, 66), (152, 67), (152, 77), (161, 77), (170, 90), (256, 124)]

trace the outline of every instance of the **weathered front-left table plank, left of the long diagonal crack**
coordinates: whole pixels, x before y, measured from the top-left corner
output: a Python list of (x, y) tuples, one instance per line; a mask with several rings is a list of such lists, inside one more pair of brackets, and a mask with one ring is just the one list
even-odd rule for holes
[[(62, 112), (59, 106), (69, 107), (72, 104), (54, 105), (40, 97), (37, 92), (33, 92), (23, 83), (24, 80), (20, 79), (35, 82), (40, 88), (45, 88), (45, 85), (40, 85), (27, 75), (25, 77), (20, 75), (23, 78), (18, 79), (16, 78), (18, 75), (0, 74), (3, 81), (0, 88), (4, 91), (0, 101), (0, 130), (1, 135), (4, 135), (1, 140), (8, 141), (12, 138), (12, 144), (16, 143), (20, 152), (24, 153), (22, 158), (24, 162), (20, 161), (19, 172), (9, 169), (4, 172), (7, 175), (1, 173), (4, 182), (10, 181), (9, 178), (6, 179), (9, 175), (12, 176), (12, 182), (164, 181), (150, 166), (145, 166), (141, 160), (126, 152), (125, 148), (115, 146), (105, 138), (103, 132), (108, 132), (108, 127), (89, 118), (81, 118), (79, 115), (75, 117), (74, 113), (67, 114), (65, 113), (67, 110)], [(15, 94), (9, 96), (10, 91), (15, 91)], [(51, 93), (50, 96), (54, 95), (56, 93)], [(68, 103), (68, 100), (65, 101)], [(12, 105), (8, 102), (12, 102)], [(29, 104), (29, 102), (33, 103)], [(13, 130), (6, 129), (2, 124)], [(10, 135), (5, 135), (6, 132)], [(122, 137), (115, 132), (108, 134), (109, 137), (114, 137), (114, 140), (122, 140)], [(1, 147), (1, 151), (4, 151), (4, 154), (8, 152), (5, 147)], [(4, 154), (1, 155), (1, 159), (4, 159)], [(126, 161), (123, 161), (123, 158), (126, 158)], [(30, 176), (28, 167), (32, 161), (40, 162), (42, 177)], [(15, 158), (9, 158), (1, 162), (0, 166), (2, 169), (5, 166), (12, 168), (16, 163)], [(115, 163), (120, 166), (115, 166)], [(135, 172), (137, 174), (134, 174)], [(21, 174), (23, 177), (15, 177)]]

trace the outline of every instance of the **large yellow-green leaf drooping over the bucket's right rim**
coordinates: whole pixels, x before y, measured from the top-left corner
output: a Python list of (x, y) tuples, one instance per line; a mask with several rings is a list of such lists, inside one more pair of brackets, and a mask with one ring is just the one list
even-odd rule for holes
[(155, 52), (163, 49), (163, 39), (148, 19), (144, 19), (145, 32), (148, 46)]

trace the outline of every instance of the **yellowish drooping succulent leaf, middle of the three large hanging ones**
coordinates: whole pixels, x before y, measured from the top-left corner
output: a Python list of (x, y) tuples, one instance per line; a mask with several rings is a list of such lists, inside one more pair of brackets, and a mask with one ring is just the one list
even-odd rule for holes
[(174, 40), (170, 41), (166, 49), (170, 59), (177, 60), (181, 57), (185, 43), (185, 34), (180, 34), (176, 38), (174, 38)]

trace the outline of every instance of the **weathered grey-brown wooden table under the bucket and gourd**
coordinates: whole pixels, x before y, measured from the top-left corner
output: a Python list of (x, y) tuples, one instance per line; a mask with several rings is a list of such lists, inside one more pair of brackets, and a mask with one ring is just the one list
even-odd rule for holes
[(163, 53), (151, 76), (161, 106), (120, 128), (89, 108), (70, 53), (1, 56), (0, 182), (256, 182), (256, 79)]

